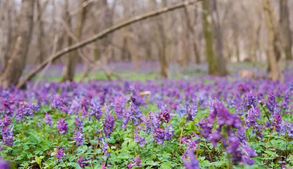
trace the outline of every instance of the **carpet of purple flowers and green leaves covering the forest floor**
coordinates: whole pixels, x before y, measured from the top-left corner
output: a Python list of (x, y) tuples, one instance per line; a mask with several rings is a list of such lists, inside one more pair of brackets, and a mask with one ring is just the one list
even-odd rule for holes
[(288, 169), (293, 81), (0, 88), (0, 169)]

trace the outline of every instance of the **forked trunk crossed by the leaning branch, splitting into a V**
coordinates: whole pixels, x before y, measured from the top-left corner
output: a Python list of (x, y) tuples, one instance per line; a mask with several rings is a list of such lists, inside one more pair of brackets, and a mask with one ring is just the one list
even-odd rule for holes
[[(80, 6), (83, 5), (83, 3), (86, 0), (80, 0)], [(66, 0), (66, 10), (68, 10), (68, 0)], [(79, 16), (79, 20), (77, 21), (77, 27), (76, 27), (76, 31), (75, 31), (75, 35), (78, 39), (78, 41), (80, 41), (82, 39), (82, 35), (83, 35), (83, 28), (84, 28), (84, 22), (85, 22), (85, 18), (86, 18), (86, 7), (83, 7), (82, 12)], [(67, 11), (67, 25), (70, 28), (71, 27), (71, 16), (69, 16), (69, 13)], [(67, 35), (67, 42), (68, 42), (68, 46), (72, 45), (72, 38), (70, 37), (70, 35)], [(64, 67), (64, 71), (63, 71), (63, 79), (62, 81), (73, 81), (74, 80), (74, 74), (75, 74), (75, 66), (77, 64), (79, 58), (79, 54), (77, 51), (74, 51), (72, 53), (69, 54), (69, 56), (67, 57), (66, 60), (66, 65)]]

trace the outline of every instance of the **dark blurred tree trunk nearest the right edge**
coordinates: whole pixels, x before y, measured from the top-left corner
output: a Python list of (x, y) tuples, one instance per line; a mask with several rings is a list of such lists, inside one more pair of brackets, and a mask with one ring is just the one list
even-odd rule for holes
[(290, 28), (290, 19), (289, 19), (289, 9), (288, 9), (288, 0), (279, 0), (280, 4), (280, 26), (284, 32), (284, 38), (286, 41), (285, 45), (285, 54), (286, 60), (292, 60), (292, 31)]

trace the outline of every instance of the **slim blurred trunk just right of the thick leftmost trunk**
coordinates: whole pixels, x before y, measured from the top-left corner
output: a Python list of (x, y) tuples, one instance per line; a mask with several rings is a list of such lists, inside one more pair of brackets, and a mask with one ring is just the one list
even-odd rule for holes
[(42, 7), (40, 4), (40, 0), (37, 0), (37, 10), (38, 10), (38, 16), (40, 16), (40, 20), (38, 21), (39, 23), (39, 35), (38, 35), (38, 47), (39, 47), (39, 63), (42, 63), (44, 61), (44, 43), (43, 43), (43, 38), (44, 38), (44, 29), (43, 29), (43, 21), (42, 21)]

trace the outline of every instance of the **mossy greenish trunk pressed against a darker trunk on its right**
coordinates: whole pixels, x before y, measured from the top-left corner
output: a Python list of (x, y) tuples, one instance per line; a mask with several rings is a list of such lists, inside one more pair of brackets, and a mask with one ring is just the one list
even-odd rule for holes
[(212, 26), (212, 5), (211, 0), (203, 0), (203, 29), (206, 41), (206, 57), (209, 64), (209, 75), (217, 75), (217, 60), (213, 48), (213, 26)]

